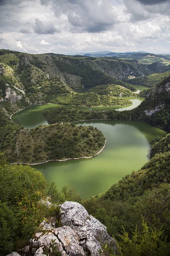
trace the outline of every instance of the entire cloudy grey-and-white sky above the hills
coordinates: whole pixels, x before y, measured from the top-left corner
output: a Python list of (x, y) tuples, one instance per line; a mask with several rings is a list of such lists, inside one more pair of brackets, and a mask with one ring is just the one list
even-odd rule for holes
[(0, 0), (0, 49), (170, 52), (170, 0)]

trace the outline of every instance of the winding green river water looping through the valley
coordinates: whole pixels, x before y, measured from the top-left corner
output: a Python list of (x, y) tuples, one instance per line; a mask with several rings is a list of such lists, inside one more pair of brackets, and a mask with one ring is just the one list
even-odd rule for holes
[[(56, 106), (58, 105), (31, 106), (14, 114), (12, 120), (27, 128), (45, 125), (47, 121), (43, 112)], [(127, 108), (129, 107), (124, 109)], [(119, 111), (124, 109), (119, 107)], [(47, 180), (54, 181), (59, 190), (68, 183), (70, 188), (75, 186), (79, 194), (87, 198), (105, 192), (126, 174), (140, 169), (149, 159), (150, 141), (166, 134), (157, 127), (139, 121), (86, 121), (77, 122), (77, 125), (93, 125), (103, 132), (107, 142), (102, 153), (91, 159), (53, 161), (34, 167), (41, 170)]]

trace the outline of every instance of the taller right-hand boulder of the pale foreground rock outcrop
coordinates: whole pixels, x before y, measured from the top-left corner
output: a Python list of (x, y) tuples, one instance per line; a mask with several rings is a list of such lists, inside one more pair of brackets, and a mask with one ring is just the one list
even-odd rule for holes
[(99, 249), (102, 248), (100, 242), (107, 244), (114, 242), (111, 236), (108, 235), (106, 227), (89, 215), (81, 204), (66, 201), (60, 208), (62, 226), (71, 227), (79, 240), (85, 240), (84, 246), (90, 251), (91, 256), (99, 255)]

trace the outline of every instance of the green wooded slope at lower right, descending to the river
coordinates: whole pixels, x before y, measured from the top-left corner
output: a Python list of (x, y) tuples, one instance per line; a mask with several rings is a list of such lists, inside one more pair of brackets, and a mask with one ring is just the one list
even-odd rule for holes
[[(83, 205), (107, 227), (110, 235), (122, 235), (123, 228), (132, 239), (142, 216), (153, 230), (163, 227), (163, 239), (170, 241), (170, 152), (156, 154), (138, 172), (126, 175), (102, 195), (85, 200)], [(116, 236), (120, 241), (120, 236)]]

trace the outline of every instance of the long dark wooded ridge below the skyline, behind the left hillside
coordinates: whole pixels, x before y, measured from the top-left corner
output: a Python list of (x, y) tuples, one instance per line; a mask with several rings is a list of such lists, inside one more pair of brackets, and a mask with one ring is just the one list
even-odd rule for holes
[[(77, 58), (66, 55), (33, 55), (10, 50), (0, 50), (0, 62), (12, 67), (17, 73), (19, 73), (22, 64), (26, 66), (32, 65), (31, 67), (34, 70), (38, 68), (48, 74), (50, 78), (56, 75), (59, 76), (65, 84), (72, 88), (94, 87), (112, 83), (135, 90), (133, 85), (123, 83), (123, 81), (117, 79), (129, 75), (139, 77), (153, 73), (145, 65), (117, 59)], [(24, 76), (22, 70), (21, 74)], [(41, 72), (39, 72), (39, 76), (37, 78), (41, 79)]]

